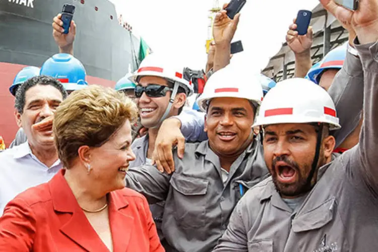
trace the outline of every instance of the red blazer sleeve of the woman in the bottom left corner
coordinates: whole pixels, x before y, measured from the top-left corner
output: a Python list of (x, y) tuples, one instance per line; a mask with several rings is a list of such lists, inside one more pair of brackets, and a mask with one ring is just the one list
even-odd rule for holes
[(29, 252), (36, 233), (32, 209), (19, 198), (8, 203), (0, 217), (0, 251)]

